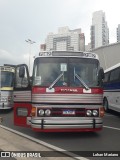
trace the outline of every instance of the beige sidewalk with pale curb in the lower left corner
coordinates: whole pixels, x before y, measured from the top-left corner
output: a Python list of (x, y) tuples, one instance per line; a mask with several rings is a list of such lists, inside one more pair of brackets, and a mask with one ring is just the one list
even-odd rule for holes
[(45, 144), (40, 144), (40, 142), (36, 142), (34, 139), (31, 140), (29, 137), (25, 137), (24, 134), (14, 132), (14, 130), (3, 126), (2, 117), (0, 117), (0, 123), (0, 159), (2, 160), (77, 159), (72, 153), (64, 152), (64, 150), (60, 151), (58, 148), (53, 149), (52, 146), (46, 147)]

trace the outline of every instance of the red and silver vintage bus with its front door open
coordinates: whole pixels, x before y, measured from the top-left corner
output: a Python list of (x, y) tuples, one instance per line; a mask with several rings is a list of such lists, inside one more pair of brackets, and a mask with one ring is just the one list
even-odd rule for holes
[(95, 53), (40, 52), (33, 74), (16, 67), (14, 125), (36, 132), (100, 131), (104, 78)]

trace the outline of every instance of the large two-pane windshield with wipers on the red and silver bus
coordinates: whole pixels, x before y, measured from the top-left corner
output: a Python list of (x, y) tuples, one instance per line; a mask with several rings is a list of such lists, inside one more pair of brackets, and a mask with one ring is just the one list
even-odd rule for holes
[[(84, 58), (37, 58), (34, 64), (34, 86), (95, 87), (98, 84), (96, 59)], [(79, 78), (77, 78), (79, 77)]]

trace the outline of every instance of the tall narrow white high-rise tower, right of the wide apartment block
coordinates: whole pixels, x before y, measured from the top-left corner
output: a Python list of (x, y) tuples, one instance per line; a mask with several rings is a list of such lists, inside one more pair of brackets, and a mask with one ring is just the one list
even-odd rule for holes
[(105, 13), (100, 10), (93, 13), (91, 26), (91, 49), (109, 44), (109, 29)]

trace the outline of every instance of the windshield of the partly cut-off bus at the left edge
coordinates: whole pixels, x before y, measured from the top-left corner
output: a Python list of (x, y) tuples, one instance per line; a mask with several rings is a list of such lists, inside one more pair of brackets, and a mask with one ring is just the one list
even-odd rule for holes
[(0, 81), (1, 87), (13, 87), (13, 72), (1, 71)]

